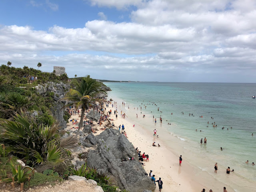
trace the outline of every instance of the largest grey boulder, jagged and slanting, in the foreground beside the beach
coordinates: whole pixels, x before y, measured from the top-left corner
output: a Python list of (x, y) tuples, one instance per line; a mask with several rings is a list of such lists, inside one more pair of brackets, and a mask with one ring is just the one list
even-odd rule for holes
[[(123, 134), (110, 128), (96, 138), (99, 139), (98, 148), (88, 153), (89, 167), (112, 175), (117, 186), (130, 192), (155, 190), (156, 186), (138, 161), (136, 150)], [(128, 157), (134, 160), (128, 160)], [(121, 161), (124, 158), (128, 161)]]

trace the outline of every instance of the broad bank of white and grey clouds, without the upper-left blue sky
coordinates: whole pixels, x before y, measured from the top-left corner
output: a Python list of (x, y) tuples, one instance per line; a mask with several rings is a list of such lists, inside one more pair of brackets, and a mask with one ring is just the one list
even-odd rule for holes
[[(87, 21), (83, 28), (49, 26), (48, 31), (42, 31), (31, 26), (2, 26), (0, 61), (11, 60), (20, 65), (42, 62), (45, 70), (52, 65), (74, 66), (70, 74), (77, 73), (74, 70), (79, 66), (92, 74), (100, 68), (102, 74), (112, 71), (117, 73), (116, 78), (126, 80), (131, 80), (127, 74), (136, 80), (150, 80), (146, 78), (155, 73), (162, 74), (156, 80), (163, 81), (171, 81), (170, 74), (176, 81), (180, 80), (178, 74), (182, 81), (188, 81), (186, 77), (193, 78), (189, 81), (212, 77), (208, 81), (214, 81), (218, 74), (225, 74), (218, 78), (223, 81), (227, 74), (234, 82), (255, 82), (254, 1), (90, 2), (95, 6), (137, 8), (130, 13), (130, 22), (106, 21), (105, 14), (99, 12), (101, 20)], [(43, 54), (46, 51), (51, 51), (51, 55)], [(54, 51), (61, 51), (62, 55), (54, 56)], [(86, 54), (87, 51), (93, 54)]]

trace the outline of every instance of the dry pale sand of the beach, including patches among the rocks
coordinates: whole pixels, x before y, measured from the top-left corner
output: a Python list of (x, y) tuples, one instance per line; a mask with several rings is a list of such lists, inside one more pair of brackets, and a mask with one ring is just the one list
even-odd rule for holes
[[(112, 101), (113, 103), (114, 101)], [(109, 105), (110, 106), (110, 105)], [(118, 107), (119, 108), (119, 107)], [(122, 124), (124, 125), (125, 132), (127, 133), (128, 140), (134, 145), (134, 148), (138, 149), (143, 153), (149, 155), (149, 162), (143, 162), (145, 164), (144, 169), (149, 174), (150, 170), (153, 170), (156, 180), (161, 177), (163, 181), (162, 192), (198, 192), (205, 188), (202, 184), (197, 182), (200, 179), (194, 173), (193, 168), (186, 162), (185, 159), (182, 160), (182, 166), (179, 166), (179, 157), (174, 155), (161, 141), (161, 138), (153, 136), (154, 128), (152, 128), (152, 133), (148, 132), (142, 126), (135, 125), (133, 127), (133, 122), (126, 117), (125, 119), (120, 115), (120, 109), (118, 109), (118, 119), (114, 115), (114, 109), (112, 107), (106, 108), (106, 111), (112, 109), (112, 115), (110, 118), (113, 118), (114, 125), (116, 129)], [(136, 114), (134, 114), (136, 115)], [(72, 115), (70, 120), (74, 118), (78, 122), (80, 117), (78, 114)], [(96, 122), (94, 122), (96, 124)], [(106, 124), (106, 122), (104, 123)], [(98, 135), (102, 132), (100, 128), (104, 127), (96, 124), (93, 128), (97, 128), (98, 131), (95, 135)], [(77, 125), (72, 125), (72, 122), (68, 122), (68, 127), (66, 130), (70, 130), (72, 127), (78, 127)], [(156, 142), (156, 145), (160, 144), (160, 147), (153, 147), (152, 143)], [(158, 191), (158, 185), (156, 190)], [(206, 190), (207, 191), (207, 190)]]

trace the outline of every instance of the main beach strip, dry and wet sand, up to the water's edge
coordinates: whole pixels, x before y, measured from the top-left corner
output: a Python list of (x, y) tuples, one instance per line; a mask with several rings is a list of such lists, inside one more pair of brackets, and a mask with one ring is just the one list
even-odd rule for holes
[[(113, 96), (114, 97), (114, 96)], [(116, 101), (116, 98), (112, 101)], [(120, 100), (118, 101), (118, 120), (115, 119), (115, 116), (112, 114), (113, 122), (116, 127), (120, 124), (124, 124), (125, 131), (127, 132), (128, 140), (132, 142), (134, 147), (138, 147), (138, 149), (145, 154), (149, 154), (149, 162), (146, 162), (146, 166), (144, 169), (147, 173), (150, 170), (153, 170), (153, 174), (155, 174), (156, 180), (161, 177), (164, 182), (162, 192), (164, 191), (192, 191), (198, 192), (202, 191), (203, 188), (207, 190), (212, 189), (213, 191), (221, 191), (223, 190), (223, 186), (226, 186), (229, 192), (235, 192), (231, 187), (227, 184), (224, 184), (214, 177), (212, 177), (207, 172), (200, 170), (198, 167), (194, 166), (190, 162), (186, 160), (186, 155), (182, 154), (182, 166), (179, 166), (179, 156), (177, 156), (177, 152), (174, 148), (168, 147), (166, 141), (161, 140), (161, 138), (156, 138), (153, 136), (148, 129), (146, 129), (143, 125), (135, 124), (132, 118), (121, 118), (120, 111), (124, 106), (120, 104)], [(106, 108), (106, 110), (115, 109), (112, 107)], [(136, 116), (136, 112), (134, 116)], [(133, 127), (135, 124), (135, 127)], [(166, 130), (167, 133), (167, 130)], [(153, 147), (152, 143), (156, 141), (156, 145), (160, 144), (161, 147)], [(158, 189), (158, 186), (156, 186)]]

